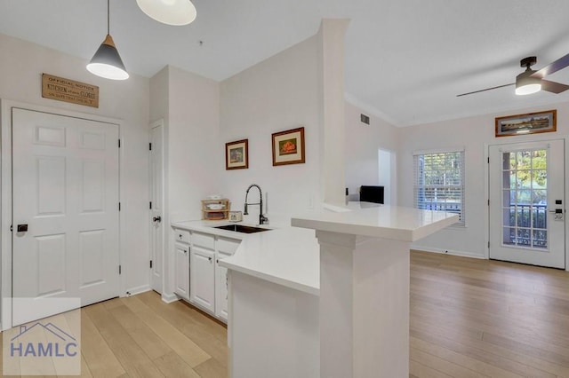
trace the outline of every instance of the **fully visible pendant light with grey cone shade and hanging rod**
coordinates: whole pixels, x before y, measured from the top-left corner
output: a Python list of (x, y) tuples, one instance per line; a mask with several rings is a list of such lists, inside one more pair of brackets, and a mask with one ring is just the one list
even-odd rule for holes
[(92, 56), (87, 65), (87, 70), (93, 75), (112, 80), (128, 79), (128, 72), (124, 68), (123, 59), (116, 50), (113, 37), (109, 33), (109, 0), (107, 0), (107, 36), (100, 44), (99, 50)]

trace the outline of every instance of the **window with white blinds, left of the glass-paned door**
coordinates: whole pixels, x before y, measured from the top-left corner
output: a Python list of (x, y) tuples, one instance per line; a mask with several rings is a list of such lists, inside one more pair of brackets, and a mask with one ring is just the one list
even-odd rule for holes
[(464, 151), (413, 155), (414, 206), (460, 216), (464, 225)]

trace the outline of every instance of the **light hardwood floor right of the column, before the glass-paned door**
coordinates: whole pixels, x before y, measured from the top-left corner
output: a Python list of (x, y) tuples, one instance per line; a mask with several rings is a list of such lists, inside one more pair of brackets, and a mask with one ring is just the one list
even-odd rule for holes
[(569, 273), (413, 252), (413, 377), (569, 377)]

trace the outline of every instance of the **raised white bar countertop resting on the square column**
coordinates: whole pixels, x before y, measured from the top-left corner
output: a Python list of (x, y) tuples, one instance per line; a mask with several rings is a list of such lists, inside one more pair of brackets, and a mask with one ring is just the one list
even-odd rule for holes
[(374, 238), (415, 241), (459, 220), (444, 211), (350, 202), (347, 208), (329, 207), (318, 213), (293, 217), (291, 224), (314, 230), (341, 232)]

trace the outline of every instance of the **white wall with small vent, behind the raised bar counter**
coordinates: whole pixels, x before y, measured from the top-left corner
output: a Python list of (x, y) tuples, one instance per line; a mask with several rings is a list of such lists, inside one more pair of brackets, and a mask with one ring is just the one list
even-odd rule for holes
[[(360, 121), (362, 113), (370, 117), (369, 125)], [(379, 177), (378, 150), (389, 150), (397, 155), (398, 130), (390, 123), (346, 101), (345, 140), (346, 187), (349, 188), (350, 200), (357, 201), (361, 185), (382, 185)], [(393, 173), (391, 182), (396, 183), (396, 169), (391, 170)], [(393, 202), (396, 204), (395, 199)]]

